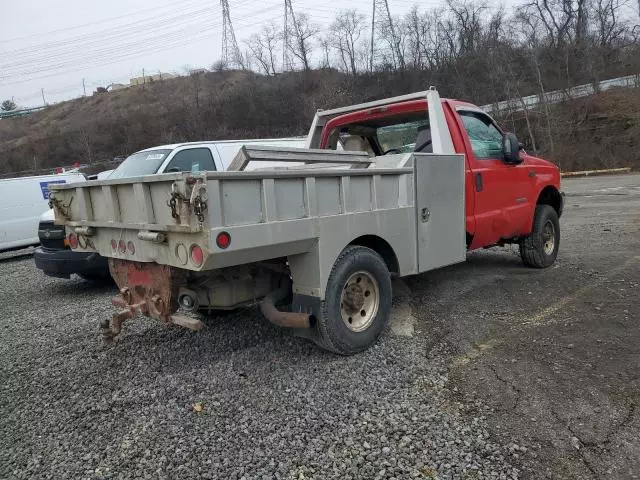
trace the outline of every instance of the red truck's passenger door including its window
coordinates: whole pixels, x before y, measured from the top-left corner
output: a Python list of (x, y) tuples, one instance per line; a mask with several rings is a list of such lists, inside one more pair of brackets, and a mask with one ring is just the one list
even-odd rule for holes
[(474, 183), (476, 228), (470, 248), (526, 233), (531, 202), (535, 202), (535, 179), (529, 176), (529, 168), (524, 162), (503, 161), (503, 133), (491, 117), (476, 109), (459, 108), (457, 113), (466, 132), (464, 153)]

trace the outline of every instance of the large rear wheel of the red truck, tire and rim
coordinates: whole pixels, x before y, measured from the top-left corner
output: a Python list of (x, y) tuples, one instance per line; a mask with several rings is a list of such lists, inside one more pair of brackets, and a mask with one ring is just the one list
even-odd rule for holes
[(391, 276), (375, 251), (361, 246), (345, 248), (333, 264), (320, 318), (318, 343), (352, 355), (378, 339), (391, 310)]

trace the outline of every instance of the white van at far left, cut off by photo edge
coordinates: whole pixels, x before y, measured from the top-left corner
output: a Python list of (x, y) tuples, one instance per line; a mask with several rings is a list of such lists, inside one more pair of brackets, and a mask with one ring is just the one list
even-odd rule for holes
[(81, 173), (0, 179), (0, 251), (40, 243), (38, 222), (49, 209), (49, 185), (84, 180)]

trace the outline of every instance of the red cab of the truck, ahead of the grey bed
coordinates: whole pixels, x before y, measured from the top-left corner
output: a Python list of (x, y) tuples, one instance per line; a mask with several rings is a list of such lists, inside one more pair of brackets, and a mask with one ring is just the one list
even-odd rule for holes
[[(560, 171), (552, 162), (525, 152), (515, 135), (504, 132), (479, 107), (442, 99), (448, 148), (435, 153), (465, 155), (465, 230), (469, 249), (515, 243), (532, 230), (536, 207), (562, 214)], [(434, 153), (433, 120), (426, 99), (365, 108), (329, 118), (310, 146), (366, 151), (370, 156)], [(437, 118), (437, 116), (436, 116)], [(447, 138), (447, 140), (448, 140)], [(451, 150), (450, 150), (451, 149)], [(449, 151), (444, 151), (449, 150)]]

